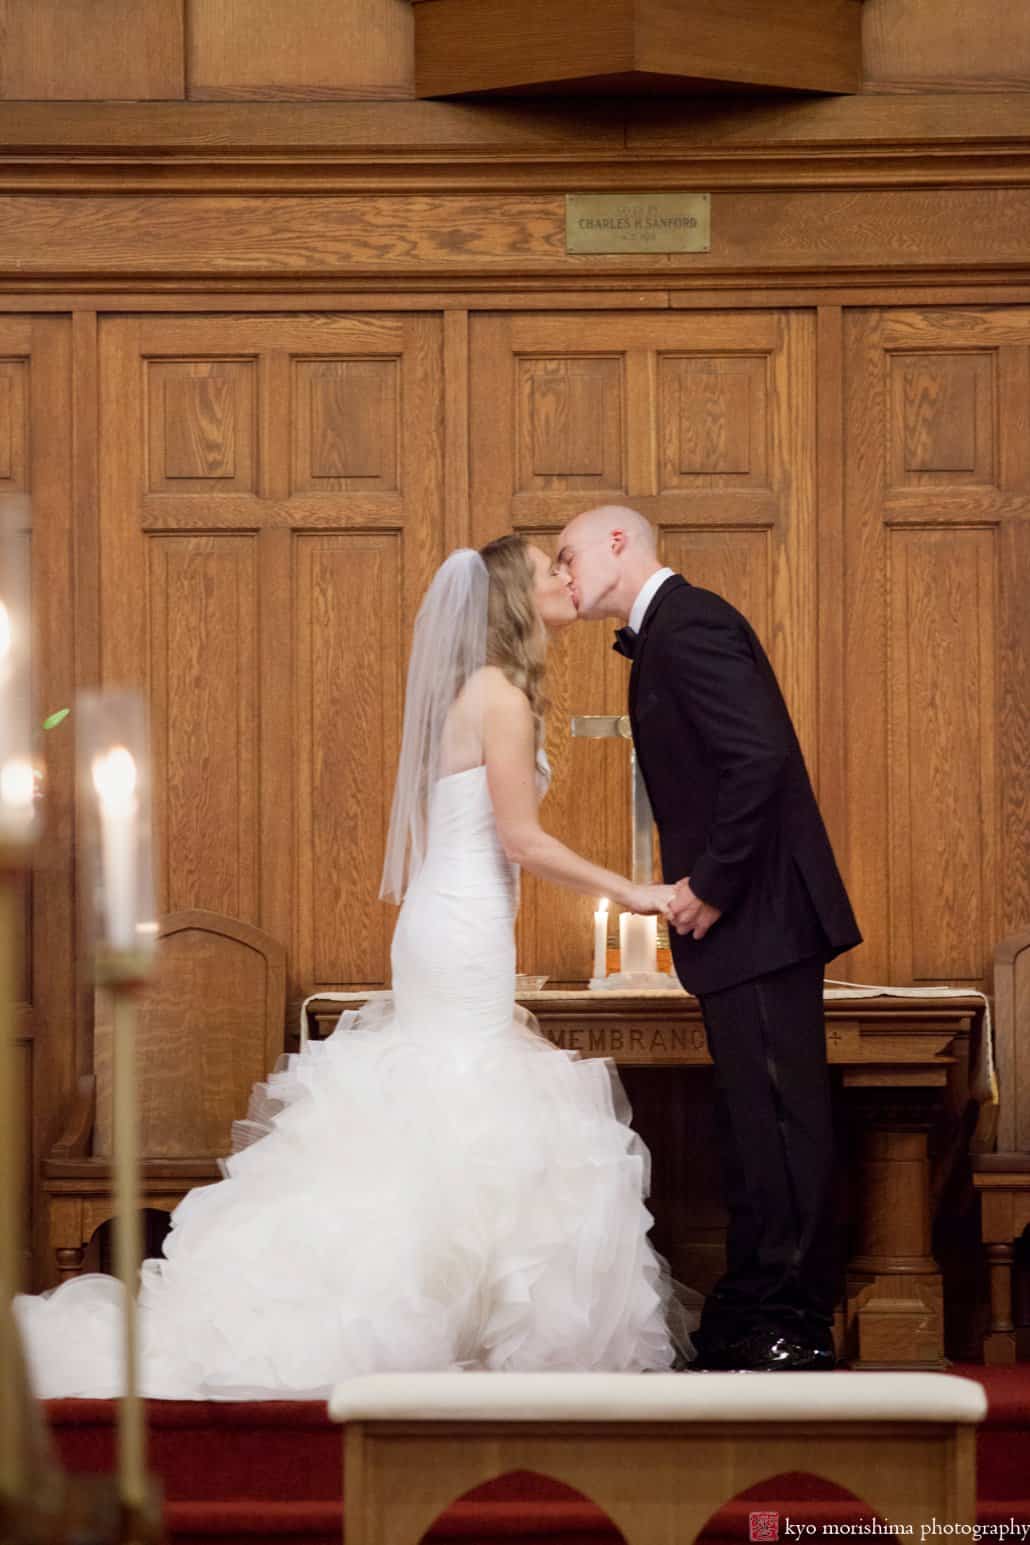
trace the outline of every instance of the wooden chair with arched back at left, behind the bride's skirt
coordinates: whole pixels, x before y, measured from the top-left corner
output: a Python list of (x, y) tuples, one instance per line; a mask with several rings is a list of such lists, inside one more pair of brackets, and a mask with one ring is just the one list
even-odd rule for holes
[[(99, 1000), (103, 1004), (103, 1000)], [(283, 1052), (286, 950), (216, 912), (178, 912), (158, 933), (158, 964), (139, 1007), (141, 1202), (171, 1211), (218, 1180), (232, 1122)], [(42, 1166), (54, 1278), (77, 1276), (114, 1214), (111, 1040), (100, 1014), (94, 1074)]]

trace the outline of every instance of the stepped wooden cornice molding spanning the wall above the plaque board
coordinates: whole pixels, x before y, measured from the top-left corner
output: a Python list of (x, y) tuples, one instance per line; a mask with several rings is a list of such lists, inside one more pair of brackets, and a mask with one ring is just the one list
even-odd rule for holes
[(0, 104), (0, 193), (490, 195), (1022, 187), (1030, 93), (530, 102)]

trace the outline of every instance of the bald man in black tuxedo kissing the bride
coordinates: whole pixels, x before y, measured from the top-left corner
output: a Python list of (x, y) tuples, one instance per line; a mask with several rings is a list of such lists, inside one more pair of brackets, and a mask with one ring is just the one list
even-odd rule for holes
[(862, 942), (805, 760), (740, 612), (656, 558), (636, 510), (562, 531), (579, 616), (629, 626), (633, 745), (676, 885), (670, 944), (715, 1063), (726, 1273), (703, 1369), (831, 1369), (832, 1117), (823, 967)]

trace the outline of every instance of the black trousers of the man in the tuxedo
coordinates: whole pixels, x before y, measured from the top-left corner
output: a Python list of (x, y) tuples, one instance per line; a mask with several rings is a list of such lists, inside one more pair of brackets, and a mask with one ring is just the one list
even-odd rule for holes
[(729, 1227), (698, 1340), (826, 1327), (837, 1302), (822, 956), (701, 1003)]

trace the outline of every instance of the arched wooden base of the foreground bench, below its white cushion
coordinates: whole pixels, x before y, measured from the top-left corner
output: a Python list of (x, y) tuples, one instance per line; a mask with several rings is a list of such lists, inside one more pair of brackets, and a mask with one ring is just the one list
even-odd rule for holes
[(696, 1539), (771, 1477), (803, 1469), (916, 1536), (939, 1517), (971, 1526), (974, 1443), (974, 1424), (953, 1420), (732, 1421), (696, 1409), (664, 1421), (351, 1418), (344, 1519), (357, 1545), (406, 1545), (456, 1497), (499, 1474), (531, 1471), (601, 1508), (621, 1539), (670, 1545)]

